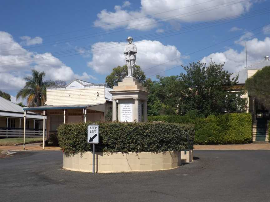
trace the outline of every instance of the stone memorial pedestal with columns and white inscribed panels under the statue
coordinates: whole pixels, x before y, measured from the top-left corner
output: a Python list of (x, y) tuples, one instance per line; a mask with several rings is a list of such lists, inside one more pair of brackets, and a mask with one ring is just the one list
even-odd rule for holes
[[(113, 86), (110, 91), (113, 99), (113, 121), (116, 121), (116, 106), (118, 100), (118, 121), (121, 122), (147, 122), (147, 97), (146, 88), (133, 77), (127, 77), (118, 86)], [(143, 120), (142, 120), (143, 104)]]

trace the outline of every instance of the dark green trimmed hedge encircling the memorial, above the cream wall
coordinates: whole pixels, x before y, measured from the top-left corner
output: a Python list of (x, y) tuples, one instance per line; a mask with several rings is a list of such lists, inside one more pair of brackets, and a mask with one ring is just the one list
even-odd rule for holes
[[(92, 151), (87, 143), (87, 125), (67, 123), (58, 127), (59, 145), (65, 153)], [(97, 124), (97, 123), (96, 123)], [(98, 123), (99, 144), (103, 152), (163, 152), (193, 149), (194, 127), (177, 123)]]

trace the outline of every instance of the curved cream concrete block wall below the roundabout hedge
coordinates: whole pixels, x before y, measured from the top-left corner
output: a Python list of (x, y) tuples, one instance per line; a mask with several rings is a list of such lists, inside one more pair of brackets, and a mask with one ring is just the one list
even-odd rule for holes
[[(131, 152), (128, 154), (95, 152), (95, 172), (113, 173), (173, 169), (181, 165), (182, 153), (178, 151), (140, 152), (138, 154)], [(184, 158), (187, 156), (184, 156)], [(185, 160), (185, 162), (190, 160), (191, 158)], [(92, 172), (92, 161), (93, 153), (90, 151), (72, 156), (64, 154), (63, 168), (71, 171)]]

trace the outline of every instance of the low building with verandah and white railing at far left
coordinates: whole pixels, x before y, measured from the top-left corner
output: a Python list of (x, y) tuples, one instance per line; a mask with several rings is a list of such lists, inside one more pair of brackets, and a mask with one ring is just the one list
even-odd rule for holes
[[(23, 136), (24, 110), (21, 106), (0, 97), (0, 137)], [(26, 137), (35, 137), (43, 132), (43, 116), (27, 113)]]

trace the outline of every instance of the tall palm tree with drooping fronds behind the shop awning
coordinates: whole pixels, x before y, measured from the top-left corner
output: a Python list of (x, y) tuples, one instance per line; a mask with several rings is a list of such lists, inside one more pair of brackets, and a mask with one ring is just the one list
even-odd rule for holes
[(21, 89), (16, 99), (27, 99), (28, 107), (43, 106), (46, 101), (46, 86), (52, 85), (52, 81), (43, 81), (44, 72), (32, 70), (32, 76), (27, 76), (25, 86)]

